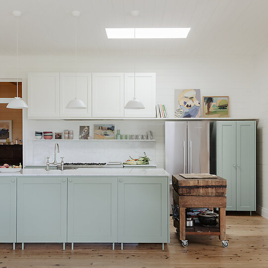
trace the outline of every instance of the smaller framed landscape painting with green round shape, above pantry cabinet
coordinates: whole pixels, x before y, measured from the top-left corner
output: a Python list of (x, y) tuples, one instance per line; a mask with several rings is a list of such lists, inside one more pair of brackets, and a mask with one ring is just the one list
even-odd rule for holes
[(203, 96), (203, 117), (229, 117), (229, 97)]

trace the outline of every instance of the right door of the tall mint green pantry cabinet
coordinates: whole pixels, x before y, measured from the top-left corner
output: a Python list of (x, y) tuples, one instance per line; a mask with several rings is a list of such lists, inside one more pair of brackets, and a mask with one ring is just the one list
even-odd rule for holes
[(236, 204), (237, 210), (256, 210), (255, 122), (236, 123)]

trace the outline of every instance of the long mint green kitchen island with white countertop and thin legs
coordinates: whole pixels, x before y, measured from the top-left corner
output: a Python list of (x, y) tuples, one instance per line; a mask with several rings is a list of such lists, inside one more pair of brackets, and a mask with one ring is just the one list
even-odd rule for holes
[(0, 243), (169, 243), (164, 169), (0, 173)]

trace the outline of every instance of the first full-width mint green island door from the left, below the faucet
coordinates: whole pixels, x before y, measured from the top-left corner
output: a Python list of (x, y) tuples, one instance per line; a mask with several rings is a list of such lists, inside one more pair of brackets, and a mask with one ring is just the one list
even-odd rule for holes
[(67, 242), (67, 178), (17, 179), (17, 242)]

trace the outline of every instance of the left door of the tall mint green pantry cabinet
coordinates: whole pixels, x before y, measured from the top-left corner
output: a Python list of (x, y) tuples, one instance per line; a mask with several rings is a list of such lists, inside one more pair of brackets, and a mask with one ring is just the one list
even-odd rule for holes
[(236, 210), (236, 123), (217, 122), (217, 175), (227, 180), (227, 210)]

